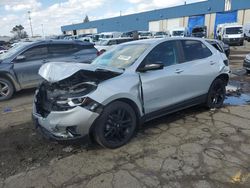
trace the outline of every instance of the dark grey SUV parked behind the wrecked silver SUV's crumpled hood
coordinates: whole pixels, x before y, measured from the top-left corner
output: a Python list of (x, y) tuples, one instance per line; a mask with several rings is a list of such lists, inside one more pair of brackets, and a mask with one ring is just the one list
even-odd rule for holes
[(97, 57), (93, 44), (81, 41), (45, 40), (18, 43), (0, 55), (0, 101), (14, 92), (36, 87), (39, 68), (48, 62), (90, 63)]

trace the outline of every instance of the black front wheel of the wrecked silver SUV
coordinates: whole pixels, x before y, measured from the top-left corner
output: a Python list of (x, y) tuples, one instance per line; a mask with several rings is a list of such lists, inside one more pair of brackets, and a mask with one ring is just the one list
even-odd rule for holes
[(96, 141), (106, 148), (118, 148), (130, 141), (136, 130), (136, 115), (127, 103), (116, 101), (105, 107), (95, 123)]

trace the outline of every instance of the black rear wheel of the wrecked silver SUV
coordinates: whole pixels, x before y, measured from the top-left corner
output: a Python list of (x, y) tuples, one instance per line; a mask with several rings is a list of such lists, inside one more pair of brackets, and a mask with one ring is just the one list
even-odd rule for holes
[(226, 97), (226, 84), (221, 79), (216, 79), (210, 86), (206, 106), (209, 109), (221, 108)]

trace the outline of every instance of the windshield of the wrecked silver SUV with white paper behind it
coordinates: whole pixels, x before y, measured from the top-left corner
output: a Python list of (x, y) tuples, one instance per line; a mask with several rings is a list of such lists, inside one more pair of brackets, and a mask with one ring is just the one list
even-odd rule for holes
[(132, 65), (148, 46), (148, 44), (120, 45), (105, 52), (95, 59), (92, 64), (124, 69)]

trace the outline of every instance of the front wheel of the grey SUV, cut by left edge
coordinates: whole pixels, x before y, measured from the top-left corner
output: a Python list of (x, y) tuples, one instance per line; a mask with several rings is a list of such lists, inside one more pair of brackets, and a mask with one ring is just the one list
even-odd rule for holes
[(0, 78), (0, 101), (10, 99), (14, 94), (14, 86), (13, 84), (5, 79)]

